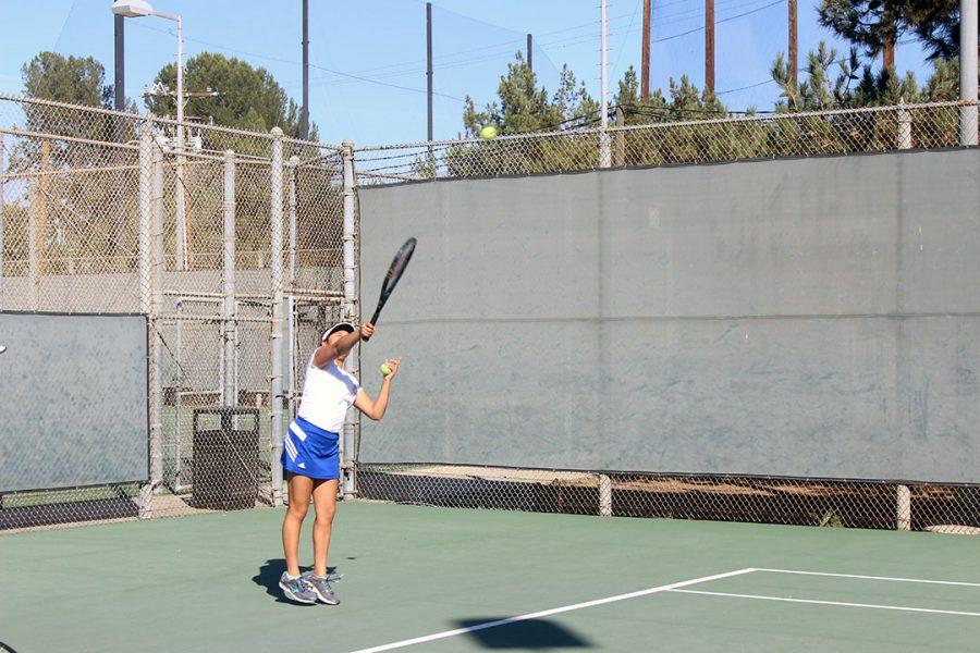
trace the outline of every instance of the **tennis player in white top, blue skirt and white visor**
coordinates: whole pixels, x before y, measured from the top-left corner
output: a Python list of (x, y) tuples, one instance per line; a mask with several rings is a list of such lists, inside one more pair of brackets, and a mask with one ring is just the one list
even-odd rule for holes
[[(282, 522), (286, 570), (279, 579), (279, 587), (286, 596), (299, 603), (316, 603), (317, 599), (329, 605), (340, 603), (327, 578), (327, 552), (340, 482), (339, 434), (352, 404), (372, 420), (384, 417), (391, 382), (401, 364), (401, 358), (384, 361), (391, 373), (381, 382), (381, 392), (376, 399), (344, 370), (344, 359), (354, 345), (373, 333), (372, 324), (365, 323), (356, 329), (350, 322), (339, 322), (323, 333), (320, 346), (306, 366), (303, 399), (296, 419), (283, 439), (282, 467), (289, 476), (290, 507)], [(317, 512), (314, 569), (311, 574), (301, 575), (299, 531), (310, 496)]]

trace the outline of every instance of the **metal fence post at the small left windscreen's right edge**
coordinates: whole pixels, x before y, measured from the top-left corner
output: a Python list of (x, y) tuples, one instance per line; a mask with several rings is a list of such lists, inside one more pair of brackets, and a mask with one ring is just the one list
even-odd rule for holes
[[(137, 286), (139, 292), (139, 312), (147, 316), (147, 328), (149, 335), (147, 337), (148, 346), (154, 347), (152, 316), (150, 315), (150, 221), (152, 220), (152, 123), (147, 120), (143, 124), (139, 133), (139, 170), (137, 186), (137, 257), (136, 257), (136, 274)], [(148, 352), (148, 354), (151, 353)], [(152, 360), (152, 358), (150, 358)], [(149, 361), (148, 361), (149, 362)], [(147, 397), (149, 405), (152, 405), (152, 369), (150, 369), (149, 379), (147, 379), (150, 396)], [(152, 422), (152, 417), (150, 418)], [(149, 433), (149, 453), (150, 461), (154, 459), (154, 434), (152, 428)], [(152, 467), (152, 464), (150, 465)], [(154, 516), (154, 483), (152, 471), (150, 471), (150, 482), (144, 484), (139, 489), (139, 518), (147, 519)]]

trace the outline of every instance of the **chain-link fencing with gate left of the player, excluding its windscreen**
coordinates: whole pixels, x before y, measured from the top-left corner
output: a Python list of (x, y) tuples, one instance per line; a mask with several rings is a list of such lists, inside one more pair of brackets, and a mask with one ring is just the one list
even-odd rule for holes
[(342, 312), (340, 149), (0, 96), (0, 310), (149, 317), (147, 479), (0, 479), (0, 529), (280, 503), (290, 402)]

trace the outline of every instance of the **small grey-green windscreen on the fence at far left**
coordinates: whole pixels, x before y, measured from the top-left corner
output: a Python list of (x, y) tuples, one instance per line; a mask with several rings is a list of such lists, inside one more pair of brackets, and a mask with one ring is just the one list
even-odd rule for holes
[(143, 316), (0, 312), (0, 493), (140, 481)]

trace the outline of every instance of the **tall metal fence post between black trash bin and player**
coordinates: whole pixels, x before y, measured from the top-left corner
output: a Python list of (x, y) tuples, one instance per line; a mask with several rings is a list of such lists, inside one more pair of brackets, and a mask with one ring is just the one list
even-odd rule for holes
[(282, 505), (282, 130), (272, 128), (269, 219), (271, 244), (269, 271), (272, 283), (272, 374), (269, 383), (269, 418), (272, 420), (272, 505)]

